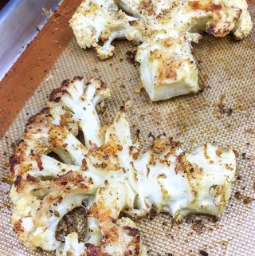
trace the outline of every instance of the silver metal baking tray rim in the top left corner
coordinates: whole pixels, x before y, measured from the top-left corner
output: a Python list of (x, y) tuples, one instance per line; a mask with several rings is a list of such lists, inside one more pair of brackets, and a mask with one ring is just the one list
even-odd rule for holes
[(49, 10), (56, 10), (60, 2), (10, 0), (0, 11), (0, 80), (45, 25)]

